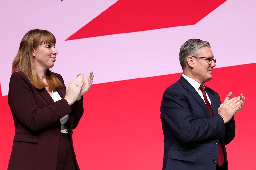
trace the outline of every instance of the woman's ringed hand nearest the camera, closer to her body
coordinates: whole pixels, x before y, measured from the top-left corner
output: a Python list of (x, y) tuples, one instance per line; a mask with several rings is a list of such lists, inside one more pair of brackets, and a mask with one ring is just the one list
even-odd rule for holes
[(80, 95), (83, 84), (84, 74), (80, 74), (72, 83), (68, 83), (66, 89), (66, 96), (64, 97), (64, 99), (67, 100), (69, 106), (72, 105), (76, 101), (77, 97)]

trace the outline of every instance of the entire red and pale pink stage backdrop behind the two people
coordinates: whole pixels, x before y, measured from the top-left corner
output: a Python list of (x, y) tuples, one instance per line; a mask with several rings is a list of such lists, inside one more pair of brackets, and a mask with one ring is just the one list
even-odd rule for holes
[(66, 84), (77, 73), (95, 73), (73, 133), (82, 170), (162, 168), (161, 98), (180, 78), (179, 49), (190, 38), (209, 41), (217, 59), (206, 85), (222, 101), (228, 92), (246, 97), (226, 146), (229, 169), (255, 167), (255, 1), (1, 0), (0, 15), (0, 169), (7, 169), (14, 137), (12, 60), (23, 35), (36, 28), (56, 36), (52, 71)]

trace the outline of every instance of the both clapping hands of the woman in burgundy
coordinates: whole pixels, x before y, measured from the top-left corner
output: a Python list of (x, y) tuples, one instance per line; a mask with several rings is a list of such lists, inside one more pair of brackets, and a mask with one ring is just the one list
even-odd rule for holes
[(92, 71), (86, 79), (84, 79), (84, 74), (79, 73), (73, 82), (68, 83), (64, 99), (67, 100), (69, 106), (75, 101), (80, 100), (81, 96), (88, 92), (92, 86), (93, 77), (94, 74)]

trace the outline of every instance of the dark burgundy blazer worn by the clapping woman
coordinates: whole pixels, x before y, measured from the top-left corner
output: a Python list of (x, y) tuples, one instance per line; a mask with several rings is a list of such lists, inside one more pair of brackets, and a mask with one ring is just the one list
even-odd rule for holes
[(60, 118), (69, 114), (69, 134), (72, 152), (79, 169), (72, 142), (72, 129), (81, 119), (83, 97), (69, 106), (66, 87), (60, 74), (53, 73), (63, 84), (57, 89), (61, 100), (54, 102), (47, 90), (36, 89), (23, 72), (12, 74), (8, 104), (11, 108), (15, 135), (8, 170), (56, 170), (60, 137)]

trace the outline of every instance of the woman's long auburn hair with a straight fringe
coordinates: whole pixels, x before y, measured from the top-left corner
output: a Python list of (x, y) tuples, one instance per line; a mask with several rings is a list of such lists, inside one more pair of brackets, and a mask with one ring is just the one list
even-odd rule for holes
[(31, 84), (37, 89), (48, 87), (55, 91), (57, 88), (62, 88), (63, 85), (50, 69), (46, 70), (48, 85), (44, 84), (36, 73), (33, 48), (36, 49), (43, 43), (56, 43), (56, 39), (50, 31), (40, 29), (28, 31), (22, 38), (18, 53), (12, 62), (12, 73), (22, 71), (26, 74)]

